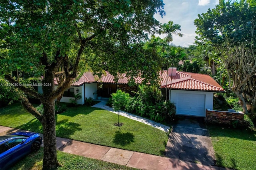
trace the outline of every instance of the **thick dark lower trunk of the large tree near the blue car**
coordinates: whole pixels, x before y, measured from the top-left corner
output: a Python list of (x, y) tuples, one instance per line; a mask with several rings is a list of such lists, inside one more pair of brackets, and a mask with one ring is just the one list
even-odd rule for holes
[(44, 115), (42, 126), (44, 130), (44, 161), (43, 170), (55, 169), (59, 166), (56, 154), (56, 122), (55, 122), (55, 102), (43, 103)]

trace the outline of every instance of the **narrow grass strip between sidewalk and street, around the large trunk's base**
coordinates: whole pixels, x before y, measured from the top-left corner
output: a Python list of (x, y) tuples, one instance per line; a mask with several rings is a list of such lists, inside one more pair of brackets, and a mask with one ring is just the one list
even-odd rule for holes
[[(62, 165), (58, 167), (58, 170), (136, 170), (135, 168), (60, 151), (57, 151), (57, 157), (59, 164)], [(29, 154), (17, 162), (10, 170), (42, 170), (42, 165), (43, 148), (40, 148), (38, 152)]]

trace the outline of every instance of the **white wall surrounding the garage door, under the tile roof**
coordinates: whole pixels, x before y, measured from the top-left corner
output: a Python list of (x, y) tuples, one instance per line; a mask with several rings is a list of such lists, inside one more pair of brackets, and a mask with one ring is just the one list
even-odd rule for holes
[[(188, 91), (188, 90), (172, 90), (170, 101), (174, 102), (176, 105), (177, 100), (177, 93), (189, 93), (189, 94), (203, 94), (205, 95), (205, 109), (211, 109), (213, 108), (213, 93), (214, 92), (207, 92), (207, 91)], [(193, 100), (193, 99), (191, 99)]]

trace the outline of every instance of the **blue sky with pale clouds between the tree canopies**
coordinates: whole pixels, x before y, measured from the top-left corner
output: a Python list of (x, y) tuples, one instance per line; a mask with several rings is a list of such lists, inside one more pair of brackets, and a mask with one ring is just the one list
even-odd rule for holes
[[(219, 0), (164, 0), (164, 10), (166, 15), (161, 18), (155, 15), (155, 18), (164, 24), (172, 20), (174, 24), (181, 25), (182, 38), (174, 36), (172, 43), (183, 47), (192, 45), (196, 36), (196, 26), (194, 20), (198, 14), (207, 12), (208, 8), (212, 9), (218, 4)], [(164, 35), (160, 35), (161, 38)]]

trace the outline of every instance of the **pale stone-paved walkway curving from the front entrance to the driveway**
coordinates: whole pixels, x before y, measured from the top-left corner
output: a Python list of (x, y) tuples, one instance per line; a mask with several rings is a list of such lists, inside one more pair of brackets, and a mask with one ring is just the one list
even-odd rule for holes
[(152, 120), (149, 120), (149, 119), (137, 116), (137, 115), (133, 115), (133, 114), (125, 112), (125, 111), (114, 111), (112, 107), (106, 106), (106, 103), (107, 103), (107, 101), (102, 99), (100, 101), (100, 103), (97, 103), (96, 105), (93, 105), (92, 107), (97, 107), (97, 108), (100, 108), (100, 109), (110, 111), (112, 113), (120, 114), (123, 117), (127, 117), (129, 119), (144, 123), (146, 125), (150, 125), (152, 127), (158, 128), (158, 129), (163, 130), (165, 132), (168, 132), (169, 129), (170, 129), (170, 127), (168, 127), (166, 125), (162, 125), (161, 123), (157, 123), (155, 121), (152, 121)]

